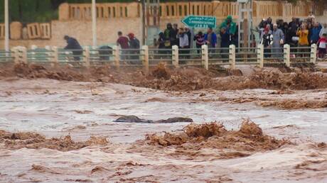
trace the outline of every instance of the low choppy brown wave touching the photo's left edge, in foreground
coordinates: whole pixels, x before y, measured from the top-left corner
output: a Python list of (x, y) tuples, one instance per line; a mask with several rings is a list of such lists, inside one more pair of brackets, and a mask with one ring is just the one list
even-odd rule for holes
[[(74, 142), (70, 135), (64, 138), (45, 138), (38, 133), (9, 133), (0, 130), (0, 144), (4, 144), (4, 148), (17, 150), (21, 148), (41, 149), (48, 148), (60, 151), (78, 150), (92, 145), (107, 145), (106, 138), (90, 137), (85, 142)], [(1, 147), (1, 146), (0, 146)]]

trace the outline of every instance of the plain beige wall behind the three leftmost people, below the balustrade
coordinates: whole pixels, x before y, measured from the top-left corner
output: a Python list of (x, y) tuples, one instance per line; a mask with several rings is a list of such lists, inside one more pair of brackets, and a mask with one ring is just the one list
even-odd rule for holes
[[(107, 21), (97, 21), (97, 43), (103, 45), (106, 43), (116, 43), (117, 32), (121, 30), (124, 35), (134, 33), (136, 38), (141, 37), (141, 19), (140, 18), (114, 18)], [(10, 40), (11, 47), (23, 45), (31, 48), (31, 45), (37, 45), (43, 48), (45, 45), (58, 47), (65, 46), (63, 37), (69, 35), (76, 38), (81, 45), (92, 45), (92, 23), (90, 21), (52, 21), (52, 37), (50, 40)], [(0, 49), (4, 44), (0, 44)]]

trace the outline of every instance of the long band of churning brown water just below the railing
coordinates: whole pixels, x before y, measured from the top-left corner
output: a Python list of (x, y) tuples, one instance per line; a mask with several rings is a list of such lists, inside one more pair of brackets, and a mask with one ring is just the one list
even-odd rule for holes
[(118, 72), (109, 66), (85, 70), (72, 67), (47, 69), (40, 65), (14, 65), (0, 70), (0, 78), (23, 77), (28, 79), (49, 78), (68, 81), (114, 82), (167, 91), (327, 88), (327, 75), (322, 72), (264, 69), (254, 71), (249, 77), (240, 76), (240, 74), (242, 73), (206, 71), (194, 67), (170, 69), (165, 65), (158, 65), (149, 74), (140, 69)]

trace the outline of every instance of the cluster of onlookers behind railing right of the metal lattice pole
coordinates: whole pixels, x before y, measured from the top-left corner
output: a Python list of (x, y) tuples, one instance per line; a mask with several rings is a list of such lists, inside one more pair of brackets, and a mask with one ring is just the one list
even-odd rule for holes
[[(323, 25), (318, 23), (312, 12), (304, 20), (294, 17), (289, 23), (283, 20), (272, 23), (270, 17), (262, 19), (257, 30), (260, 34), (260, 43), (264, 45), (264, 48), (272, 48), (264, 50), (265, 57), (280, 57), (278, 53), (282, 53), (282, 49), (278, 48), (282, 48), (284, 44), (303, 48), (316, 44), (318, 45), (318, 57), (323, 59), (326, 55), (327, 23), (323, 23)], [(308, 52), (306, 49), (301, 51)]]

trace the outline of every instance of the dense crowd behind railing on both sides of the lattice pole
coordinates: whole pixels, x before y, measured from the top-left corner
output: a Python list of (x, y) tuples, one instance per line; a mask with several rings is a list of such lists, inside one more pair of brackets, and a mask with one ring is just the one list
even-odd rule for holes
[[(264, 45), (265, 48), (264, 57), (283, 57), (282, 47), (284, 44), (289, 44), (291, 48), (309, 48), (312, 44), (317, 44), (318, 57), (322, 59), (326, 55), (327, 23), (318, 23), (312, 12), (303, 20), (292, 18), (289, 23), (283, 20), (277, 20), (273, 23), (272, 18), (264, 18), (256, 30), (259, 33), (258, 43)], [(216, 34), (213, 28), (208, 28), (206, 33), (199, 31), (193, 35), (187, 27), (178, 28), (177, 24), (171, 25), (171, 23), (168, 23), (166, 30), (159, 34), (158, 45), (162, 49), (171, 49), (173, 45), (178, 45), (182, 55), (188, 52), (188, 50), (183, 50), (184, 48), (192, 47), (193, 40), (195, 41), (195, 48), (201, 48), (202, 45), (208, 45), (208, 48), (216, 48), (219, 46), (218, 43), (220, 43), (220, 48), (238, 45), (238, 25), (232, 20), (232, 16), (227, 16), (225, 21), (220, 24), (218, 32), (219, 34)], [(220, 39), (219, 42), (218, 39)], [(226, 51), (227, 49), (221, 50), (221, 52)], [(301, 51), (309, 52), (306, 49)], [(222, 57), (224, 57), (223, 54)]]

